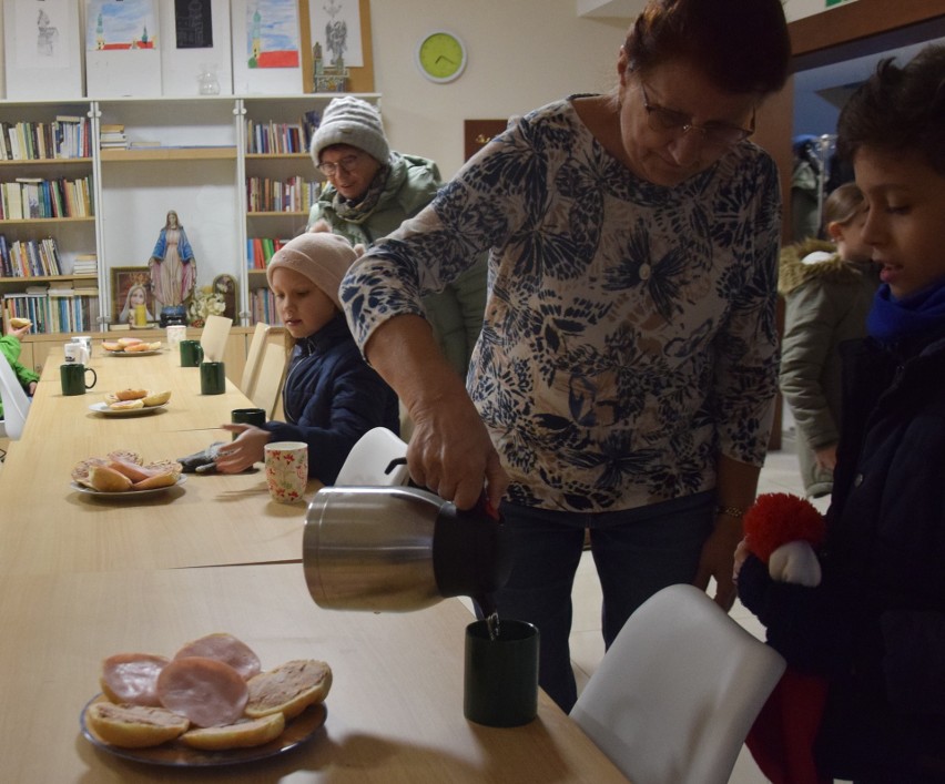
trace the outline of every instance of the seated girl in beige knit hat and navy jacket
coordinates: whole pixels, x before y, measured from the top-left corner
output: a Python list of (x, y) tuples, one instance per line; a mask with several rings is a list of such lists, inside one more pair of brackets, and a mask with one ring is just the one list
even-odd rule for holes
[(303, 234), (266, 269), (292, 358), (283, 387), (286, 421), (238, 434), (220, 450), (217, 470), (237, 474), (263, 460), (270, 441), (305, 441), (308, 476), (334, 483), (355, 442), (375, 427), (399, 432), (397, 397), (360, 356), (342, 315), (338, 285), (357, 254), (335, 234)]

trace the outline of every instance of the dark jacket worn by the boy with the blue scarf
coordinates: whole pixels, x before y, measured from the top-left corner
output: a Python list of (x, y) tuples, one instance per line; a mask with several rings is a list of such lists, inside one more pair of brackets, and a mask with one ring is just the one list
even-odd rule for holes
[(792, 665), (829, 678), (825, 773), (944, 782), (945, 334), (843, 354), (823, 581), (775, 583), (750, 557), (739, 593)]

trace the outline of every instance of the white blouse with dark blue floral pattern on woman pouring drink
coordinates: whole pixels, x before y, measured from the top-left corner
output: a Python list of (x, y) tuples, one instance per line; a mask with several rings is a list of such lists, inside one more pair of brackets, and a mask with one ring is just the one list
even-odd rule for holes
[(355, 339), (423, 315), (488, 248), (467, 388), (512, 502), (617, 511), (709, 490), (722, 454), (764, 460), (778, 377), (778, 172), (743, 142), (675, 187), (640, 180), (570, 100), (471, 159), (355, 263)]

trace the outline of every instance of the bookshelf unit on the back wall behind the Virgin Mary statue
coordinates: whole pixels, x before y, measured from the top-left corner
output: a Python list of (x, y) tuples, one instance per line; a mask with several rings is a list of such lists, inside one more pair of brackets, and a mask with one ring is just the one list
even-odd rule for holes
[[(115, 320), (111, 271), (146, 267), (166, 213), (174, 210), (194, 248), (197, 286), (232, 275), (240, 287), (235, 324), (252, 326), (261, 318), (276, 324), (266, 256), (305, 231), (322, 179), (308, 157), (308, 139), (336, 95), (0, 101), (4, 131), (32, 123), (37, 134), (42, 126), (43, 141), (55, 139), (52, 123), (62, 116), (77, 118), (87, 128), (87, 154), (0, 157), (0, 195), (8, 184), (48, 183), (50, 190), (52, 183), (79, 181), (88, 191), (82, 202), (88, 214), (0, 217), (0, 235), (8, 243), (52, 238), (60, 259), (58, 269), (49, 269), (58, 275), (0, 276), (3, 306), (19, 307), (29, 295), (35, 308), (44, 288), (50, 312), (41, 332), (108, 329)], [(376, 93), (359, 98), (379, 103)], [(114, 138), (123, 136), (128, 146), (101, 149), (100, 128), (105, 126), (120, 129)], [(253, 201), (260, 191), (267, 200)], [(254, 240), (261, 241), (258, 246), (266, 241), (267, 247), (255, 266)], [(98, 261), (96, 271), (89, 274), (80, 265), (83, 273), (74, 274), (77, 261), (88, 264), (90, 257)], [(72, 295), (64, 293), (70, 286)], [(71, 312), (75, 298), (87, 307), (83, 319), (72, 323), (61, 315)]]

